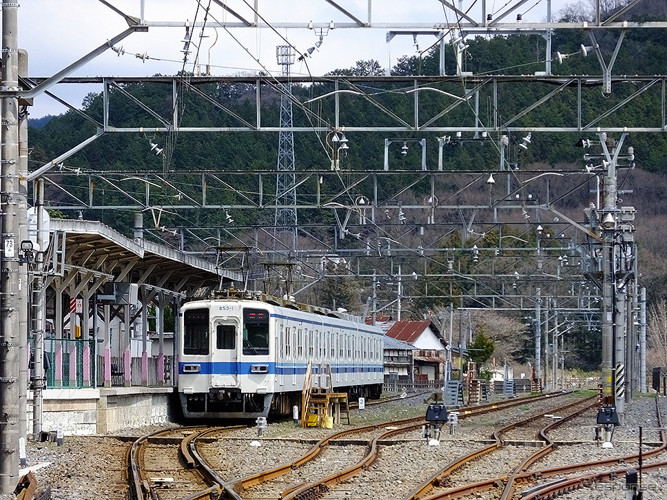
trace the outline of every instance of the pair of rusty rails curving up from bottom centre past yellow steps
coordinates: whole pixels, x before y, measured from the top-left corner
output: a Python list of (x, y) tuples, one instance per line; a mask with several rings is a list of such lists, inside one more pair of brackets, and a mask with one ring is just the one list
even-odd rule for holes
[[(521, 404), (525, 404), (526, 402), (535, 402), (535, 401), (540, 401), (542, 399), (548, 399), (550, 397), (559, 397), (562, 395), (566, 395), (569, 393), (551, 393), (551, 394), (546, 394), (546, 395), (536, 395), (536, 396), (530, 396), (530, 397), (522, 397), (519, 399), (511, 399), (507, 400), (504, 402), (497, 402), (497, 403), (492, 403), (492, 404), (486, 404), (482, 406), (477, 406), (474, 408), (464, 408), (461, 410), (461, 419), (464, 419), (466, 417), (472, 417), (475, 415), (483, 415), (484, 413), (489, 413), (493, 412), (496, 410), (503, 410), (505, 408), (511, 408), (513, 406), (519, 406)], [(349, 430), (343, 430), (340, 433), (336, 433), (334, 435), (331, 435), (325, 439), (321, 439), (318, 441), (318, 443), (311, 448), (305, 455), (297, 459), (296, 461), (293, 461), (291, 463), (287, 463), (284, 466), (280, 466), (277, 468), (274, 468), (272, 470), (268, 470), (265, 472), (261, 472), (256, 475), (248, 476), (243, 479), (236, 479), (234, 481), (229, 481), (228, 483), (225, 483), (225, 490), (232, 490), (234, 493), (236, 493), (236, 497), (238, 499), (238, 494), (243, 492), (246, 488), (250, 488), (251, 486), (254, 486), (258, 483), (268, 481), (270, 479), (273, 479), (274, 477), (279, 477), (281, 475), (287, 474), (292, 468), (296, 468), (302, 463), (305, 463), (306, 461), (312, 459), (315, 457), (318, 452), (324, 447), (329, 444), (329, 441), (333, 439), (340, 439), (342, 437), (345, 437), (347, 435), (351, 435), (354, 433), (363, 433), (367, 432), (368, 430), (371, 430), (373, 428), (380, 428), (380, 427), (386, 427), (386, 426), (396, 426), (396, 429), (389, 430), (386, 433), (382, 433), (381, 435), (375, 437), (371, 443), (369, 444), (369, 453), (360, 461), (357, 463), (355, 466), (348, 468), (346, 470), (343, 470), (342, 472), (338, 472), (337, 474), (331, 475), (329, 477), (326, 477), (325, 479), (321, 479), (319, 481), (316, 481), (314, 483), (309, 483), (303, 486), (300, 486), (296, 490), (293, 490), (291, 492), (288, 492), (285, 497), (283, 497), (283, 500), (292, 500), (292, 499), (306, 499), (306, 498), (311, 498), (311, 497), (317, 497), (318, 495), (322, 494), (323, 492), (326, 492), (331, 488), (333, 485), (336, 483), (340, 483), (340, 481), (345, 481), (345, 479), (352, 477), (353, 475), (356, 475), (358, 472), (360, 472), (363, 468), (369, 466), (370, 463), (373, 462), (373, 460), (376, 459), (377, 454), (378, 454), (378, 441), (387, 439), (393, 435), (398, 435), (401, 433), (406, 433), (409, 430), (413, 430), (414, 428), (422, 426), (424, 424), (424, 417), (415, 417), (411, 419), (405, 419), (405, 420), (398, 420), (398, 421), (393, 421), (393, 422), (384, 422), (382, 424), (377, 424), (374, 426), (365, 426), (365, 427), (360, 427), (356, 429), (349, 429)]]

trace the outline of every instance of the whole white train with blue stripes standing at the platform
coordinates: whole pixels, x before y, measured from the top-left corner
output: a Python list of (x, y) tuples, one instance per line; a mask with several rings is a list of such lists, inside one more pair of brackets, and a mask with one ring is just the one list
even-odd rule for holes
[(309, 362), (314, 379), (331, 366), (334, 392), (380, 397), (380, 329), (347, 313), (236, 295), (181, 308), (178, 393), (186, 418), (291, 415)]

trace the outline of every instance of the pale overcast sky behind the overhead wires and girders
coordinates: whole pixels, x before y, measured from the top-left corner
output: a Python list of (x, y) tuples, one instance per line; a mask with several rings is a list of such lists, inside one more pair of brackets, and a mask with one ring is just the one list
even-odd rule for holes
[[(473, 0), (453, 0), (467, 10)], [(140, 0), (110, 0), (116, 8), (134, 17), (141, 15)], [(253, 14), (244, 0), (227, 0), (227, 5), (246, 19), (252, 20)], [(249, 2), (252, 5), (252, 0)], [(339, 0), (362, 21), (367, 20), (368, 0)], [(471, 12), (480, 6), (475, 2)], [(506, 4), (515, 4), (517, 0), (486, 0), (487, 12), (502, 12)], [(553, 14), (566, 3), (566, 0), (552, 0)], [(183, 36), (185, 21), (203, 20), (203, 9), (198, 6), (211, 5), (209, 22), (236, 22), (210, 0), (145, 0), (144, 19), (146, 21), (170, 21), (179, 23), (178, 28), (150, 28), (147, 33), (134, 33), (116, 45), (122, 45), (125, 54), (119, 56), (108, 50), (94, 61), (85, 65), (72, 76), (150, 76), (176, 74), (183, 69)], [(524, 21), (544, 21), (546, 19), (547, 0), (530, 0), (516, 12), (521, 12)], [(260, 14), (269, 23), (349, 23), (349, 18), (338, 12), (324, 0), (259, 0)], [(479, 17), (476, 16), (476, 17)], [(512, 14), (504, 21), (515, 19)], [(451, 10), (445, 10), (437, 0), (375, 0), (371, 23), (423, 23), (431, 25), (453, 22)], [(29, 52), (29, 75), (46, 77), (80, 59), (82, 56), (102, 45), (116, 34), (127, 28), (124, 19), (104, 6), (98, 0), (29, 0), (19, 7), (19, 47)], [(201, 30), (193, 30), (194, 40), (199, 39)], [(318, 40), (315, 30), (283, 29), (278, 30), (289, 43), (304, 52)], [(276, 32), (270, 28), (260, 30), (244, 28), (208, 28), (201, 43), (199, 61), (209, 64), (212, 74), (227, 75), (239, 72), (268, 70), (271, 74), (280, 74), (276, 63), (276, 45), (284, 45)], [(333, 29), (322, 30), (324, 39), (320, 49), (307, 59), (308, 67), (297, 62), (291, 67), (293, 74), (321, 75), (336, 68), (352, 67), (361, 59), (376, 59), (382, 66), (396, 64), (398, 57), (412, 55), (417, 48), (412, 37), (396, 37), (387, 50), (387, 29)], [(435, 37), (420, 36), (420, 50), (428, 48)], [(196, 50), (196, 48), (192, 48)], [(142, 62), (134, 54), (147, 54), (151, 59)], [(190, 56), (186, 70), (196, 72)], [(259, 63), (255, 61), (259, 60)], [(204, 69), (202, 69), (203, 71)], [(90, 85), (57, 85), (54, 94), (72, 105), (80, 106), (81, 99), (88, 92), (101, 92), (101, 87)], [(66, 110), (63, 105), (48, 96), (39, 96), (34, 101), (30, 116), (37, 118), (45, 114), (60, 114)]]

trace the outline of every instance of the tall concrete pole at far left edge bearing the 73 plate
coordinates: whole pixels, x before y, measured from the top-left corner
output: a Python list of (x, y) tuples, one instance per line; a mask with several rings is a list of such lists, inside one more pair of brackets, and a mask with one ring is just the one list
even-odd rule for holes
[[(19, 90), (18, 3), (2, 6), (2, 83)], [(2, 97), (0, 105), (0, 494), (19, 481), (19, 100)]]

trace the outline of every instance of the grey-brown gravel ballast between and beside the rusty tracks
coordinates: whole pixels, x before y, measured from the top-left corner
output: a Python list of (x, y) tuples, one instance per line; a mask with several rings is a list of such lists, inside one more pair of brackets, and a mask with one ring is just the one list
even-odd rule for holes
[[(351, 410), (351, 422), (353, 426), (374, 425), (384, 421), (404, 419), (409, 417), (423, 416), (426, 413), (427, 402), (425, 396), (404, 399), (399, 402), (367, 406), (365, 410)], [(558, 399), (560, 404), (565, 404), (568, 397)], [(661, 398), (662, 399), (662, 398)], [(568, 399), (569, 400), (569, 399)], [(551, 401), (553, 403), (553, 400)], [(516, 419), (544, 411), (546, 404), (531, 403), (522, 405), (514, 410), (502, 410), (493, 416), (476, 417), (460, 421), (454, 435), (444, 431), (441, 436), (440, 446), (428, 446), (421, 437), (421, 431), (415, 430), (407, 435), (402, 435), (402, 441), (394, 446), (382, 446), (380, 448), (380, 460), (358, 477), (349, 481), (349, 490), (353, 494), (347, 495), (350, 500), (362, 498), (400, 498), (411, 488), (430, 477), (430, 475), (447, 465), (453, 459), (470, 452), (473, 449), (482, 448), (484, 440), (489, 439), (493, 430), (509, 424)], [(667, 400), (662, 401), (662, 406), (667, 408)], [(663, 410), (665, 413), (667, 410)], [(655, 421), (655, 401), (650, 397), (639, 397), (630, 403), (626, 413), (626, 424), (619, 426), (614, 436), (614, 448), (603, 449), (592, 441), (593, 427), (595, 426), (595, 413), (586, 414), (568, 424), (553, 430), (552, 439), (560, 442), (577, 441), (570, 446), (559, 446), (556, 452), (548, 455), (535, 466), (537, 469), (573, 463), (582, 460), (596, 460), (602, 457), (620, 457), (637, 452), (639, 446), (639, 426), (644, 428), (645, 441), (657, 441), (658, 433)], [(347, 428), (345, 425), (336, 425), (333, 429), (321, 428), (297, 428), (291, 421), (269, 424), (265, 436), (260, 438), (261, 446), (254, 447), (254, 453), (247, 453), (249, 462), (255, 470), (278, 466), (294, 460), (305, 450), (309, 449), (312, 441), (329, 436)], [(153, 432), (157, 428), (128, 429), (123, 436), (137, 437)], [(245, 466), (238, 461), (230, 467), (225, 464), (225, 455), (238, 454), (238, 448), (243, 446), (250, 448), (250, 442), (257, 440), (255, 428), (243, 428), (232, 431), (229, 434), (234, 439), (220, 441), (213, 448), (218, 457), (218, 463), (214, 466), (225, 471), (223, 477), (228, 474), (234, 477), (243, 475), (235, 474), (234, 471), (243, 471)], [(583, 442), (582, 442), (583, 441)], [(64, 446), (56, 446), (53, 443), (29, 443), (28, 465), (48, 464), (39, 470), (35, 470), (39, 488), (47, 484), (52, 490), (52, 499), (68, 500), (92, 500), (100, 497), (116, 499), (121, 498), (116, 494), (120, 485), (125, 481), (125, 455), (129, 444), (117, 436), (72, 436), (65, 437)], [(208, 445), (206, 445), (208, 446)], [(525, 452), (520, 446), (507, 447), (504, 453)], [(531, 450), (534, 450), (531, 448)], [(530, 450), (529, 450), (530, 451)], [(238, 455), (237, 455), (238, 456)], [(664, 457), (659, 459), (665, 460)], [(509, 464), (513, 458), (502, 458), (502, 467)], [(483, 460), (480, 460), (480, 466)], [(488, 462), (487, 462), (488, 463)], [(496, 459), (496, 463), (500, 463)], [(622, 465), (625, 467), (626, 465)], [(465, 473), (461, 473), (455, 479), (460, 481), (472, 480), (473, 475), (490, 477), (489, 468), (480, 469), (480, 472), (469, 472), (469, 479), (464, 479)], [(462, 479), (460, 479), (460, 477)], [(667, 498), (667, 470), (649, 472), (644, 475), (646, 486), (645, 499)], [(551, 481), (553, 479), (547, 479)], [(625, 492), (621, 488), (624, 480), (619, 479), (613, 483), (607, 483), (595, 488), (587, 488), (573, 492), (565, 497), (568, 500), (578, 499), (624, 499)], [(117, 488), (114, 488), (117, 485)], [(344, 489), (347, 486), (344, 486)], [(95, 492), (105, 492), (104, 495)], [(496, 495), (497, 497), (497, 495)], [(12, 498), (11, 496), (0, 497), (0, 500)], [(333, 497), (331, 497), (333, 498)], [(485, 499), (486, 495), (478, 495)], [(489, 495), (488, 498), (493, 498)]]

